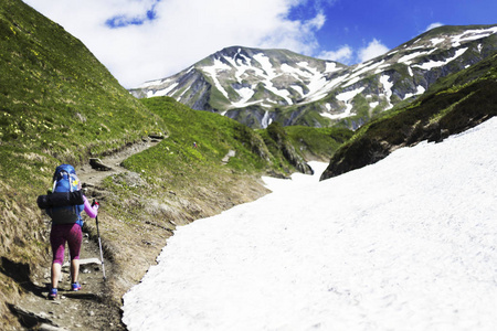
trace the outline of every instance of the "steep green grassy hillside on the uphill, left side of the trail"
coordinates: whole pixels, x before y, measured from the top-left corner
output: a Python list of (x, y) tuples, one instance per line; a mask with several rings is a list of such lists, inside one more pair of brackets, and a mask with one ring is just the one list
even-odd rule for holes
[(54, 167), (165, 130), (78, 40), (20, 0), (0, 2), (0, 302), (18, 291), (7, 261), (33, 269), (47, 256), (35, 201)]

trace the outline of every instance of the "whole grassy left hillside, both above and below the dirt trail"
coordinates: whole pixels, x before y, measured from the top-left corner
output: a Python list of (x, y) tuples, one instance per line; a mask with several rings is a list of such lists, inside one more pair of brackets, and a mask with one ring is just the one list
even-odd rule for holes
[[(260, 174), (295, 169), (234, 120), (170, 98), (135, 99), (60, 25), (20, 0), (0, 2), (0, 329), (12, 320), (4, 303), (50, 265), (50, 223), (35, 201), (55, 167), (77, 169), (151, 132), (168, 138), (127, 159), (128, 173), (89, 188), (102, 199), (105, 249), (120, 273), (108, 282), (116, 307), (154, 263), (171, 222), (256, 199), (267, 192)], [(299, 143), (310, 146), (306, 139), (314, 136), (307, 137)], [(230, 151), (235, 154), (224, 159)]]

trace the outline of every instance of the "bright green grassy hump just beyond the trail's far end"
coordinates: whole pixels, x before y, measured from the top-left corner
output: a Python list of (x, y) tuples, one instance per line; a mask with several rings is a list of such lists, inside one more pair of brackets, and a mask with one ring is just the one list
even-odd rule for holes
[[(235, 150), (236, 156), (226, 167), (234, 171), (255, 172), (268, 167), (261, 158), (268, 157), (267, 149), (261, 137), (246, 126), (218, 114), (192, 110), (169, 97), (141, 99), (141, 103), (167, 122), (169, 138), (131, 157), (126, 167), (150, 174), (179, 173), (186, 168), (216, 169), (222, 167), (222, 159), (230, 150)], [(149, 157), (157, 160), (156, 164), (145, 161)]]

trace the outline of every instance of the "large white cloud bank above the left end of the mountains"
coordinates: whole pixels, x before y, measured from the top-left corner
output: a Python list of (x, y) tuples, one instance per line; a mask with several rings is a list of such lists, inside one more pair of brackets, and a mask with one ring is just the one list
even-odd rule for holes
[[(232, 45), (310, 55), (326, 21), (322, 12), (308, 21), (287, 18), (308, 0), (24, 1), (78, 38), (125, 87), (176, 74)], [(110, 29), (109, 20), (136, 24)]]

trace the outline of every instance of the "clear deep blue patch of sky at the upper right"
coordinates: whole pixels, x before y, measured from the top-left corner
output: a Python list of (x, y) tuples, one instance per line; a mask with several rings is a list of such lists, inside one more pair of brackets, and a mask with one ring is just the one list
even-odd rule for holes
[[(289, 17), (308, 19), (322, 11), (326, 22), (316, 31), (316, 38), (320, 49), (328, 52), (343, 45), (361, 50), (374, 40), (390, 50), (432, 26), (497, 23), (497, 1), (336, 0), (322, 1), (319, 7), (309, 6), (309, 2), (294, 8)], [(345, 62), (350, 64), (361, 60), (356, 53)]]

